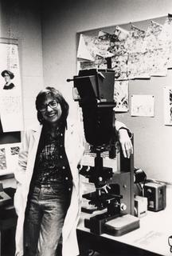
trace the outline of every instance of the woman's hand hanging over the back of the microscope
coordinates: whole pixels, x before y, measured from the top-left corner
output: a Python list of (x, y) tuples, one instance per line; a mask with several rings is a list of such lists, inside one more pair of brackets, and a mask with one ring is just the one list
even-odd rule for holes
[(118, 134), (124, 158), (130, 158), (131, 154), (133, 154), (131, 138), (129, 137), (127, 130), (123, 128), (119, 129)]

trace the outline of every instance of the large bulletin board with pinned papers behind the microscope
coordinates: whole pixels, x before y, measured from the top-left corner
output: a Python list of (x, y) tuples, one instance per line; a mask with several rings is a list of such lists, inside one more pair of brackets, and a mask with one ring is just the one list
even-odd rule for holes
[(172, 16), (76, 34), (77, 71), (115, 70), (115, 116), (134, 133), (135, 167), (172, 183)]

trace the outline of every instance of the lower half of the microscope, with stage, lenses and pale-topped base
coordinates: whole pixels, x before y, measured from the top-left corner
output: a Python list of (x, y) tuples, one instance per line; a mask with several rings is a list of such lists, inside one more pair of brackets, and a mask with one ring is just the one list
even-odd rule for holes
[[(132, 140), (133, 141), (133, 140)], [(124, 158), (122, 152), (116, 153), (115, 161), (119, 170), (103, 167), (96, 171), (94, 166), (80, 166), (80, 174), (94, 183), (96, 190), (83, 195), (88, 204), (96, 206), (88, 210), (82, 207), (84, 226), (94, 234), (111, 234), (119, 236), (139, 228), (139, 218), (134, 216), (134, 159)], [(99, 166), (100, 167), (100, 166)], [(95, 174), (96, 173), (96, 174)], [(98, 182), (95, 182), (98, 180)]]

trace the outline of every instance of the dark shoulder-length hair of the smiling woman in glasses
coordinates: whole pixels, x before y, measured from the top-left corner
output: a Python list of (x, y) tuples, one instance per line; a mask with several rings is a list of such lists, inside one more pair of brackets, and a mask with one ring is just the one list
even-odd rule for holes
[(46, 87), (44, 90), (41, 90), (39, 92), (39, 94), (37, 94), (37, 98), (36, 98), (36, 109), (37, 109), (37, 119), (38, 121), (44, 125), (45, 123), (45, 119), (42, 117), (40, 106), (43, 104), (43, 102), (45, 102), (46, 98), (50, 96), (52, 98), (54, 98), (58, 103), (61, 104), (61, 110), (62, 110), (62, 114), (61, 114), (61, 123), (63, 125), (65, 125), (65, 127), (67, 126), (67, 117), (68, 117), (68, 102), (65, 101), (65, 98), (63, 97), (63, 95), (60, 93), (59, 90), (55, 89), (54, 87)]

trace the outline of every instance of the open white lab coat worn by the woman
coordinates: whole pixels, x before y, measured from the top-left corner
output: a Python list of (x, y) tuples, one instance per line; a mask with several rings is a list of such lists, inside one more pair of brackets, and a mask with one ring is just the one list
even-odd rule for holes
[[(116, 130), (124, 126), (121, 122), (115, 122)], [(81, 184), (77, 165), (84, 154), (83, 132), (79, 129), (80, 125), (68, 124), (65, 131), (65, 150), (68, 162), (72, 171), (73, 189), (70, 206), (65, 217), (62, 230), (63, 237), (63, 256), (76, 256), (79, 254), (76, 226), (80, 218), (81, 204)], [(126, 127), (126, 126), (124, 126)], [(23, 224), (25, 221), (25, 206), (29, 193), (29, 185), (33, 175), (33, 167), (37, 154), (37, 146), (41, 135), (42, 126), (38, 125), (32, 129), (26, 130), (22, 148), (19, 154), (18, 168), (14, 175), (18, 182), (18, 187), (14, 195), (14, 206), (18, 214), (18, 224), (16, 229), (16, 256), (23, 256)]]

